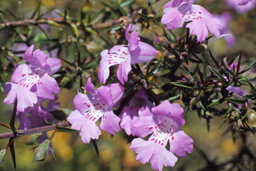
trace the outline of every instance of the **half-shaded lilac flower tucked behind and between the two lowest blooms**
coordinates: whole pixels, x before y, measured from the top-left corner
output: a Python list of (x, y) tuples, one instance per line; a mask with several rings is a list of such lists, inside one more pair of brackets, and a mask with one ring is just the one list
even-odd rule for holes
[(136, 94), (129, 100), (128, 104), (123, 107), (120, 118), (120, 126), (125, 129), (127, 135), (131, 134), (131, 126), (133, 125), (134, 120), (138, 118), (135, 114), (139, 116), (153, 116), (151, 113), (151, 108), (153, 104), (147, 100), (148, 96), (145, 92), (145, 89), (139, 89)]

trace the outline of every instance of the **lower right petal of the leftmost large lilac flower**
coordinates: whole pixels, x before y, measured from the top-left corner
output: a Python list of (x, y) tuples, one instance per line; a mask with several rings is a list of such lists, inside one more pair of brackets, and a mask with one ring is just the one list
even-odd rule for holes
[(55, 81), (55, 79), (50, 77), (47, 73), (45, 73), (43, 77), (39, 79), (37, 83), (37, 96), (54, 99), (54, 95), (52, 93), (58, 94), (59, 92), (60, 88), (57, 81)]

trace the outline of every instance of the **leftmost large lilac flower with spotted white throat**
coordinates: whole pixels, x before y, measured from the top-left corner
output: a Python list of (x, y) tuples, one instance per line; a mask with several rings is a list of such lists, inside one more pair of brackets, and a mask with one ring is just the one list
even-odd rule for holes
[(27, 106), (33, 107), (38, 97), (54, 99), (52, 93), (60, 91), (55, 79), (49, 75), (59, 70), (61, 61), (49, 58), (39, 49), (33, 52), (34, 46), (29, 47), (23, 56), (30, 65), (17, 65), (11, 76), (11, 83), (5, 83), (4, 92), (7, 97), (3, 102), (11, 104), (17, 98), (19, 112), (23, 112)]

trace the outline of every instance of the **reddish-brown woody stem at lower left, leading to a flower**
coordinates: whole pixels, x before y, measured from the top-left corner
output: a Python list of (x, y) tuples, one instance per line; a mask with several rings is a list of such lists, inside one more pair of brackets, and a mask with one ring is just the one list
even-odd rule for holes
[[(69, 122), (61, 122), (58, 125), (61, 127), (71, 126), (71, 124)], [(55, 130), (56, 128), (57, 128), (56, 124), (52, 124), (49, 126), (42, 126), (39, 128), (31, 128), (28, 130), (19, 130), (19, 134), (16, 134), (16, 135), (13, 132), (7, 132), (7, 133), (0, 134), (0, 140), (5, 139), (5, 138), (15, 138), (15, 137), (25, 136), (25, 135), (29, 135), (29, 134), (35, 134), (35, 133), (39, 133), (39, 132), (46, 132), (49, 130)]]

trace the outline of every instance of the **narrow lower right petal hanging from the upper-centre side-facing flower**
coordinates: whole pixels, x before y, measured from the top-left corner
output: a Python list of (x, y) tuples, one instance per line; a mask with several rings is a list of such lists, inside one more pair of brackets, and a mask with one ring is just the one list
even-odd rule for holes
[(128, 81), (128, 73), (131, 71), (131, 58), (127, 59), (120, 63), (117, 69), (117, 78), (119, 81), (124, 84), (124, 81)]

